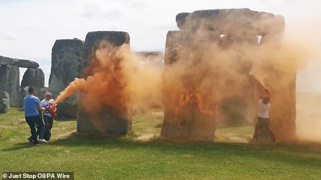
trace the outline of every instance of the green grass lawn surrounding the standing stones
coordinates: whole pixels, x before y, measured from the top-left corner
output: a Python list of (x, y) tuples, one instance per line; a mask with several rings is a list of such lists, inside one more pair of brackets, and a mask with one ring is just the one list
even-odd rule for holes
[(15, 110), (0, 114), (0, 172), (74, 171), (75, 179), (321, 179), (320, 144), (247, 143), (253, 127), (217, 129), (215, 142), (175, 143), (157, 138), (159, 112), (135, 116), (127, 137), (84, 136), (75, 132), (74, 119), (57, 119), (52, 142), (34, 147), (26, 140), (28, 125), (16, 123), (23, 112)]

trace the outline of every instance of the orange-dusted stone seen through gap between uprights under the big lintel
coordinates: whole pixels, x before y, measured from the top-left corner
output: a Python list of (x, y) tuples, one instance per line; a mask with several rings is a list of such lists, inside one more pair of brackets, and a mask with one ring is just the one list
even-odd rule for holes
[[(253, 116), (256, 114), (257, 106), (254, 99), (255, 85), (249, 77), (249, 72), (252, 67), (252, 59), (245, 58), (245, 52), (240, 47), (247, 47), (255, 50), (258, 47), (258, 37), (249, 34), (225, 35), (221, 38), (221, 48), (230, 50), (235, 53), (233, 69), (225, 71), (221, 74), (220, 80), (228, 82), (222, 84), (219, 88), (219, 94), (224, 98), (220, 102), (221, 112), (219, 113), (224, 125), (242, 125), (253, 121)], [(230, 73), (231, 75), (227, 74)], [(236, 75), (238, 78), (235, 78)], [(233, 79), (226, 78), (233, 77)], [(227, 96), (228, 92), (228, 96)], [(253, 116), (252, 116), (253, 114)]]

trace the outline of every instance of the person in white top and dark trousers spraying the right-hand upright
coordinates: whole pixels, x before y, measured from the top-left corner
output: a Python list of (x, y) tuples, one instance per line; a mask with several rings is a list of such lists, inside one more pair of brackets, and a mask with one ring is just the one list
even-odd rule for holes
[(255, 125), (253, 140), (254, 141), (258, 140), (258, 138), (260, 136), (260, 134), (258, 133), (258, 130), (265, 127), (268, 130), (272, 141), (275, 142), (275, 135), (271, 131), (271, 129), (268, 127), (268, 125), (270, 124), (270, 120), (269, 120), (269, 109), (271, 107), (270, 96), (272, 94), (268, 88), (265, 89), (265, 92), (266, 92), (267, 96), (260, 97), (259, 102), (258, 102), (258, 114), (257, 114), (258, 115), (258, 123)]

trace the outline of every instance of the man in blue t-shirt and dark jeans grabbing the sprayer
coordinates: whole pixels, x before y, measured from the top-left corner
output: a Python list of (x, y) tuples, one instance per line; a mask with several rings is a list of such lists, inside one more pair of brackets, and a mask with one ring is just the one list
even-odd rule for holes
[[(39, 117), (38, 111), (45, 111), (45, 108), (40, 106), (39, 98), (35, 97), (35, 89), (30, 86), (28, 88), (29, 95), (23, 99), (24, 102), (24, 116), (26, 118), (26, 122), (28, 123), (31, 130), (31, 137), (28, 139), (29, 142), (33, 142), (33, 144), (38, 144), (37, 134), (39, 134), (39, 141), (48, 143), (44, 139), (45, 134), (45, 125), (43, 120)], [(35, 126), (37, 127), (37, 132), (35, 130)]]

